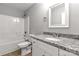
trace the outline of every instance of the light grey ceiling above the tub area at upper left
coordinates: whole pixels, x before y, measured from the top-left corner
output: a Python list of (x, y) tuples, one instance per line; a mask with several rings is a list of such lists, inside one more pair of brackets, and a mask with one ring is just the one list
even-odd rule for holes
[(34, 3), (0, 3), (0, 5), (6, 5), (6, 6), (11, 6), (14, 8), (18, 8), (22, 11), (27, 10), (30, 8)]

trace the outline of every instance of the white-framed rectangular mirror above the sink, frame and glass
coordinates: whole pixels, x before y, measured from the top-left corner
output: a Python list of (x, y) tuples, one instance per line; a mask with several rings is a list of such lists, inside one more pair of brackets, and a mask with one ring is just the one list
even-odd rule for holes
[(58, 3), (49, 7), (49, 28), (69, 27), (69, 4)]

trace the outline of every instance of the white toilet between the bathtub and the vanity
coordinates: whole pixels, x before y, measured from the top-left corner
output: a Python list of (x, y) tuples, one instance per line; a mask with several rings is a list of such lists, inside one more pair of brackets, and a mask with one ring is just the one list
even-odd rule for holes
[(21, 56), (31, 53), (31, 42), (29, 41), (19, 43), (18, 47), (21, 49)]

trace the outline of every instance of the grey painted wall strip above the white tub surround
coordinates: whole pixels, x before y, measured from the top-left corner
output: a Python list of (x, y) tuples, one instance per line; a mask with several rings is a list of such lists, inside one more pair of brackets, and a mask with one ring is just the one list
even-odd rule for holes
[(0, 14), (13, 17), (23, 17), (24, 11), (6, 5), (0, 5)]

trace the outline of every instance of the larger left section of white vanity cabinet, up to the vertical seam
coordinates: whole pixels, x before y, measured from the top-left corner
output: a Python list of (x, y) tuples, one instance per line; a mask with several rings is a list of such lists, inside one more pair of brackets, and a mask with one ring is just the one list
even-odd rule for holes
[(32, 56), (58, 56), (58, 48), (32, 38)]

